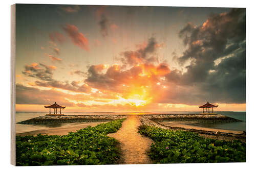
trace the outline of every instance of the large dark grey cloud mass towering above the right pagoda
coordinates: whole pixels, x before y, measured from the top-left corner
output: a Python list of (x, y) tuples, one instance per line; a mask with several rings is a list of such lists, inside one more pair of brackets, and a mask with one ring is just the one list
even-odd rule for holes
[(198, 91), (190, 99), (180, 92), (187, 99), (183, 103), (245, 103), (245, 9), (212, 14), (199, 27), (188, 23), (179, 36), (187, 50), (177, 60), (181, 65), (188, 60), (191, 64), (184, 74), (174, 70), (166, 79), (191, 92)]

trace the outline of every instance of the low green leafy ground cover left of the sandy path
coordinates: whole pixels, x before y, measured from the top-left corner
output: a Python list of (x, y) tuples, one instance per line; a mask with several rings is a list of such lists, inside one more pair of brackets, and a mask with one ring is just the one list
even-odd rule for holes
[(16, 165), (114, 164), (119, 158), (117, 132), (124, 119), (87, 127), (68, 135), (16, 136)]

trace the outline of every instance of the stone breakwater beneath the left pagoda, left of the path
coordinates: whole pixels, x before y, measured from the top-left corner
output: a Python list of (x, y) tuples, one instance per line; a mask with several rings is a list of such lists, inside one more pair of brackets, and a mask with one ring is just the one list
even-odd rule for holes
[(39, 116), (18, 122), (17, 124), (44, 125), (77, 122), (108, 122), (111, 120), (126, 118), (126, 115), (59, 115), (59, 116)]

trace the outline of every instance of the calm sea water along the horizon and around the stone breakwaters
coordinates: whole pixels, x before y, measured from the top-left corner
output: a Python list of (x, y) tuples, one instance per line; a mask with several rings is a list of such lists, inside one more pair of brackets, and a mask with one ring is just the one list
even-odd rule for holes
[[(79, 114), (87, 114), (87, 115), (105, 115), (105, 114), (199, 114), (201, 112), (66, 112), (66, 115), (79, 115)], [(233, 117), (242, 122), (234, 122), (234, 123), (199, 123), (196, 126), (205, 127), (205, 128), (216, 128), (216, 129), (226, 129), (226, 130), (238, 130), (238, 131), (246, 131), (246, 112), (245, 111), (228, 111), (228, 112), (215, 112), (217, 114), (226, 115), (229, 117)], [(27, 120), (33, 117), (43, 116), (47, 114), (46, 112), (16, 112), (16, 123), (21, 122), (23, 120)], [(57, 124), (53, 126), (42, 126), (42, 125), (20, 125), (16, 124), (16, 133), (29, 132), (33, 130), (44, 130), (49, 129), (56, 126), (71, 126), (72, 123), (66, 124)]]

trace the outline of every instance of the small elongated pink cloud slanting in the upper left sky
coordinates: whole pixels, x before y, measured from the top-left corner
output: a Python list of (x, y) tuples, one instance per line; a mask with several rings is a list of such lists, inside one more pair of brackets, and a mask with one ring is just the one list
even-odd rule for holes
[(90, 50), (88, 39), (82, 33), (78, 32), (78, 28), (76, 26), (66, 25), (63, 29), (75, 45), (79, 46), (83, 50)]

